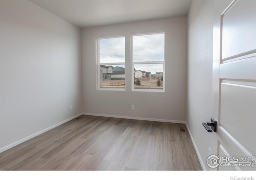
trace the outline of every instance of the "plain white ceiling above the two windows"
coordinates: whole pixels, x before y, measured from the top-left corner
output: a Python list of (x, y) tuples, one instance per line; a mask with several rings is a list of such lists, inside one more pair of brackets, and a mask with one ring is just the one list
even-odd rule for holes
[(31, 0), (78, 27), (185, 15), (191, 0)]

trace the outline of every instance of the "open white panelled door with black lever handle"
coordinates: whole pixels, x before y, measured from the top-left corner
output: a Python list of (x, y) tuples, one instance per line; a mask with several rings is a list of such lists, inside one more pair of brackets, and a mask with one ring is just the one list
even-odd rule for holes
[(214, 3), (213, 154), (238, 156), (244, 164), (234, 166), (237, 160), (230, 158), (216, 170), (256, 170), (250, 160), (256, 154), (256, 1)]

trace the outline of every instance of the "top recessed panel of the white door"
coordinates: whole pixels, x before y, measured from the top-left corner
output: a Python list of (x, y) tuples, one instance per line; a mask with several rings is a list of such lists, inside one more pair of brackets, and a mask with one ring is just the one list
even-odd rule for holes
[(222, 58), (256, 49), (256, 1), (237, 1), (224, 14)]

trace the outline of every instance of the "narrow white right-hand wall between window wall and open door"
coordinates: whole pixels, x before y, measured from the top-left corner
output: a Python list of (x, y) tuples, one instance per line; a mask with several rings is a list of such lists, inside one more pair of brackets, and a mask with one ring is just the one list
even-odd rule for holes
[(192, 1), (188, 13), (188, 96), (186, 123), (207, 168), (211, 134), (203, 127), (212, 111), (213, 1)]

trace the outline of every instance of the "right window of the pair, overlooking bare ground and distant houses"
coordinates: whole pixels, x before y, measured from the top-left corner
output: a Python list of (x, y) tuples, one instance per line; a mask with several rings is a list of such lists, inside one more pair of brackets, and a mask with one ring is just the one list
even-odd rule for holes
[(164, 33), (132, 36), (132, 90), (164, 92)]

